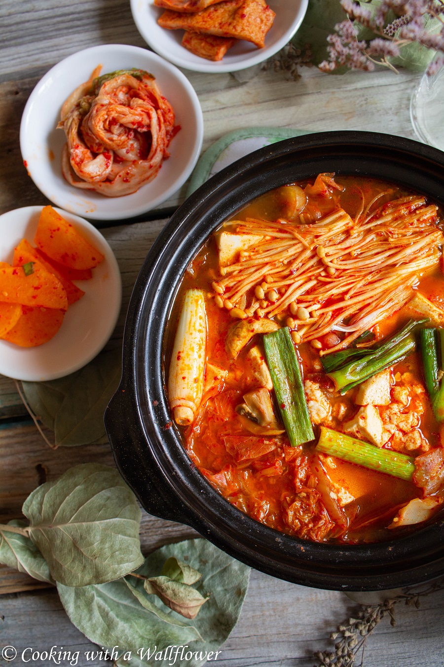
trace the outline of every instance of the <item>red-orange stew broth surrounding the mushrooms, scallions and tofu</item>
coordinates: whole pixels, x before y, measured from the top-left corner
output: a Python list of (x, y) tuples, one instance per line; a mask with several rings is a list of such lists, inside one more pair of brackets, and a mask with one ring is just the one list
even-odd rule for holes
[[(344, 209), (352, 218), (356, 217), (363, 205), (365, 207), (381, 193), (382, 196), (370, 207), (369, 214), (376, 213), (389, 201), (411, 195), (392, 183), (377, 179), (336, 177), (334, 180), (343, 189), (330, 189), (330, 196), (324, 198), (319, 194), (310, 195), (310, 187), (306, 188), (314, 183), (314, 179), (299, 183), (308, 192), (308, 201), (304, 208), (308, 213), (305, 219), (297, 219), (298, 224), (316, 223), (338, 207)], [(273, 222), (285, 218), (286, 213), (288, 201), (284, 197), (283, 203), (282, 192), (270, 191), (236, 214), (235, 219), (246, 221), (255, 218)], [(307, 217), (310, 215), (311, 219)], [(439, 211), (435, 225), (440, 229)], [(232, 229), (230, 226), (223, 228)], [(212, 289), (214, 281), (217, 283), (221, 280), (216, 235), (217, 231), (208, 238), (190, 263), (170, 316), (170, 321), (176, 323), (186, 290), (202, 290), (208, 321), (206, 374), (208, 375), (208, 364), (224, 371), (224, 377), (214, 381), (204, 391), (192, 423), (180, 427), (182, 442), (194, 464), (210, 484), (236, 508), (270, 528), (292, 536), (318, 542), (362, 543), (392, 539), (408, 530), (414, 530), (415, 526), (413, 529), (388, 529), (403, 505), (413, 498), (423, 497), (423, 490), (413, 482), (318, 454), (316, 444), (319, 424), (314, 424), (316, 437), (313, 442), (291, 447), (285, 432), (268, 435), (266, 428), (261, 430), (256, 428), (257, 425), (252, 426), (246, 416), (236, 412), (236, 408), (242, 404), (244, 394), (254, 390), (255, 381), (252, 380), (248, 352), (252, 346), (260, 348), (261, 335), (253, 336), (236, 358), (230, 358), (227, 354), (228, 331), (240, 320), (230, 314), (230, 309), (220, 307), (218, 292)], [(324, 275), (328, 277), (325, 272)], [(261, 279), (265, 279), (265, 275), (255, 284), (260, 283)], [(418, 291), (438, 307), (444, 307), (444, 275), (441, 263), (435, 261), (433, 266), (419, 271), (412, 289), (412, 293)], [(223, 297), (224, 295), (221, 298)], [(254, 301), (254, 298), (253, 285), (246, 293), (246, 303)], [(272, 319), (278, 325), (285, 326), (288, 325), (289, 317), (292, 318), (292, 313), (287, 307)], [(374, 340), (390, 336), (410, 317), (411, 313), (405, 306), (395, 309), (371, 327)], [(253, 313), (252, 319), (254, 318), (258, 319), (258, 313)], [(292, 330), (302, 330), (302, 325), (295, 325)], [(338, 340), (349, 335), (343, 331), (334, 333)], [(169, 352), (166, 356), (166, 368), (170, 364), (168, 355), (171, 354), (174, 334), (174, 328), (170, 327), (167, 333), (166, 349)], [(340, 431), (343, 424), (352, 420), (359, 410), (359, 406), (354, 402), (357, 390), (350, 390), (344, 396), (334, 390), (320, 358), (320, 352), (328, 349), (326, 336), (320, 338), (321, 350), (314, 348), (312, 340), (302, 340), (295, 344), (303, 377), (305, 381), (309, 380), (320, 388), (330, 404), (328, 426)], [(353, 345), (353, 342), (351, 344)], [(396, 431), (393, 426), (392, 431), (397, 433), (397, 444), (395, 436), (392, 435), (383, 447), (413, 457), (439, 448), (440, 426), (433, 416), (425, 390), (419, 352), (413, 352), (391, 367), (390, 383), (390, 405), (377, 406), (384, 428), (391, 428), (392, 412), (399, 418), (406, 418), (407, 422), (410, 419), (411, 423), (407, 431), (401, 431), (395, 425)], [(399, 391), (395, 390), (395, 387), (403, 389)], [(399, 397), (402, 392), (407, 396), (407, 405), (393, 398), (394, 394)], [(273, 392), (271, 395), (275, 401)], [(397, 408), (392, 408), (393, 405)], [(276, 402), (274, 412), (279, 422)], [(415, 417), (410, 418), (409, 413), (413, 413)], [(278, 430), (283, 430), (282, 423), (278, 426)], [(413, 431), (419, 434), (417, 442), (420, 442), (421, 446), (418, 448), (411, 448), (411, 442), (408, 447), (405, 446), (408, 434)], [(330, 485), (328, 493), (330, 498), (335, 500), (333, 506), (330, 501), (326, 502), (325, 488), (322, 487), (326, 474)], [(340, 508), (339, 516), (337, 504)], [(436, 512), (439, 510), (438, 507)]]

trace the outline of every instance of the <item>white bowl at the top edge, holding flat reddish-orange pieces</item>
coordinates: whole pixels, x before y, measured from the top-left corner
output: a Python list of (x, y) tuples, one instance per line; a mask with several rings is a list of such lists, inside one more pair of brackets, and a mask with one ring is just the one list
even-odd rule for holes
[(276, 18), (265, 38), (265, 46), (258, 49), (250, 42), (239, 41), (220, 61), (206, 60), (181, 45), (183, 30), (166, 30), (157, 23), (164, 9), (154, 0), (130, 0), (134, 23), (147, 44), (164, 58), (196, 72), (235, 72), (252, 67), (270, 58), (292, 39), (306, 15), (308, 0), (269, 0)]

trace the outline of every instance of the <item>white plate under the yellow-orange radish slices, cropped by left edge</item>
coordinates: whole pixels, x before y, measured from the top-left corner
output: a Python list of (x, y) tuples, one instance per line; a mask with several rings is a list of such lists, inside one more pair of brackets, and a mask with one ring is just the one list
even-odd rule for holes
[[(27, 206), (0, 215), (0, 261), (12, 263), (14, 248), (23, 238), (35, 245), (41, 209), (41, 206)], [(105, 259), (93, 269), (91, 280), (75, 281), (85, 296), (69, 306), (54, 338), (37, 348), (19, 348), (0, 340), (0, 373), (16, 380), (55, 380), (82, 368), (109, 340), (120, 311), (122, 282), (111, 247), (86, 220), (60, 209), (56, 211), (77, 227)]]

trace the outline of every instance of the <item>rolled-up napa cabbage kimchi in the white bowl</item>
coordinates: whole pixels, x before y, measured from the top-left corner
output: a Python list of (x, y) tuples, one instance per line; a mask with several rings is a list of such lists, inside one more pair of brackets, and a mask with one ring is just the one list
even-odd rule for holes
[(157, 175), (177, 128), (151, 74), (130, 70), (97, 78), (100, 69), (62, 107), (62, 171), (75, 187), (120, 197)]

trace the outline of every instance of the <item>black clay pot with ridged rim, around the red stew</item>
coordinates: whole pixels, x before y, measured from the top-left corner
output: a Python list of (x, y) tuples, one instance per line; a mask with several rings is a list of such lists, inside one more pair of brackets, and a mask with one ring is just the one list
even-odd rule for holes
[(116, 465), (151, 514), (192, 526), (267, 574), (318, 588), (384, 590), (444, 574), (444, 521), (360, 546), (291, 538), (242, 514), (191, 464), (171, 424), (162, 338), (190, 259), (209, 233), (262, 193), (320, 171), (395, 181), (444, 206), (444, 153), (367, 132), (310, 134), (255, 151), (202, 185), (174, 213), (146, 257), (126, 319), (123, 373), (105, 413)]

